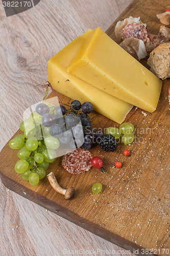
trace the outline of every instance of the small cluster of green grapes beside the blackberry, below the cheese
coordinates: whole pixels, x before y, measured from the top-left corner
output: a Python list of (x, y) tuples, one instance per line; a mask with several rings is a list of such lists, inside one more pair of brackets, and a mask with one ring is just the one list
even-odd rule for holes
[(116, 127), (108, 127), (106, 129), (106, 134), (111, 134), (115, 137), (115, 139), (120, 138), (120, 136), (123, 134), (122, 141), (125, 145), (130, 144), (134, 140), (134, 131), (135, 127), (132, 123), (122, 123), (118, 128)]

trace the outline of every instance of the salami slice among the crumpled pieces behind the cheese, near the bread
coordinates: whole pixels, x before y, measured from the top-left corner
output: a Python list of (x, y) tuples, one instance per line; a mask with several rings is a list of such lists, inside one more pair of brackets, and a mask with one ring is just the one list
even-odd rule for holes
[(139, 23), (128, 24), (122, 30), (123, 40), (128, 37), (134, 37), (134, 38), (141, 39), (143, 42), (146, 42), (147, 36), (148, 36), (147, 29)]

